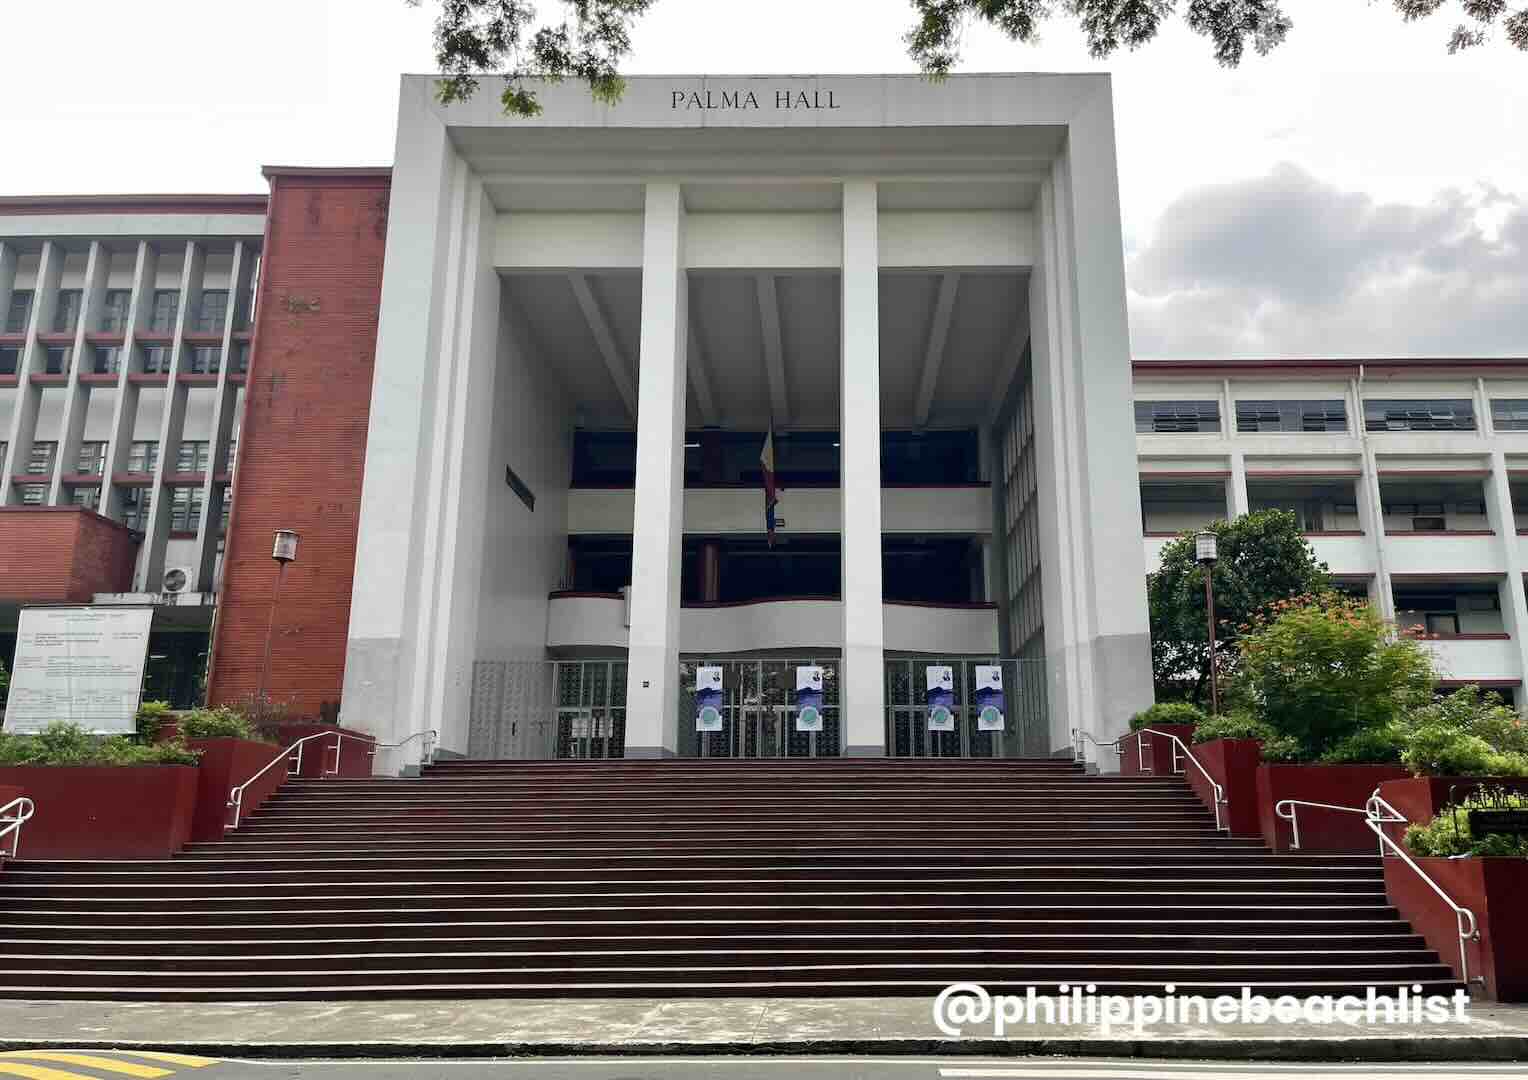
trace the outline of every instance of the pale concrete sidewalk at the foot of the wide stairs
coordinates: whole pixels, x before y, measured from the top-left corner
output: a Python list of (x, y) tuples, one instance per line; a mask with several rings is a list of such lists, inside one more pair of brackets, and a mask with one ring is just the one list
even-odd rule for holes
[(0, 1049), (176, 1049), (212, 1057), (579, 1054), (1067, 1054), (1238, 1060), (1528, 1060), (1528, 1005), (1482, 1004), (1471, 1023), (1163, 1025), (1137, 1036), (1025, 1027), (949, 1039), (926, 998), (431, 999), (329, 1002), (0, 1001)]

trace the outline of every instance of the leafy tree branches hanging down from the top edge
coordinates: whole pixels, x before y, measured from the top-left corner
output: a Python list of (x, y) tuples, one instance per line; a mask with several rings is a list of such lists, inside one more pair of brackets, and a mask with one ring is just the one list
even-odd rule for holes
[[(527, 79), (575, 78), (597, 101), (616, 102), (625, 89), (620, 61), (631, 52), (631, 29), (656, 0), (561, 0), (561, 21), (536, 26), (536, 0), (440, 0), (435, 18), (435, 63), (443, 73), (443, 104), (466, 101), (478, 76), (504, 79), (500, 102), (510, 116), (536, 116), (541, 102)], [(1390, 0), (1397, 14), (1415, 21), (1438, 14), (1455, 0)], [(417, 8), (422, 0), (405, 0)], [(1033, 44), (1054, 18), (1074, 18), (1096, 58), (1138, 49), (1178, 12), (1178, 0), (911, 0), (908, 53), (918, 69), (941, 78), (960, 61), (961, 34), (987, 23), (1012, 41)], [(1485, 44), (1500, 31), (1517, 49), (1528, 49), (1528, 8), (1508, 0), (1456, 0), (1465, 21), (1449, 37), (1449, 52)], [(1210, 40), (1215, 60), (1236, 67), (1250, 44), (1267, 55), (1290, 35), (1294, 20), (1284, 0), (1187, 0), (1184, 20)]]

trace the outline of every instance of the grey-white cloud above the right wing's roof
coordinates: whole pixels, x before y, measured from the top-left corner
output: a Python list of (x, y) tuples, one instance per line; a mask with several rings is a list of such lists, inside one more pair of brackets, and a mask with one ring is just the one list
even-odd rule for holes
[(1528, 354), (1528, 200), (1378, 202), (1280, 165), (1195, 188), (1128, 261), (1138, 357)]

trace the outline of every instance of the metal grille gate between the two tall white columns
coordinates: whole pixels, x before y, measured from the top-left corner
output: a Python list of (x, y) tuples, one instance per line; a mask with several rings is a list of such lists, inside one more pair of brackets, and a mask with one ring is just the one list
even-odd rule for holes
[[(796, 668), (822, 668), (822, 730), (796, 730)], [(695, 669), (721, 668), (721, 730), (695, 730)], [(837, 758), (839, 660), (680, 661), (678, 753), (681, 758)]]

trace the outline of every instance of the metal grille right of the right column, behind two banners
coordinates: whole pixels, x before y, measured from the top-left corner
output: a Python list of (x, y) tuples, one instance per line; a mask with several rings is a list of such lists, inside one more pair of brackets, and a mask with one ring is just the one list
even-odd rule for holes
[[(931, 732), (929, 666), (955, 669), (955, 730)], [(1005, 698), (1004, 730), (976, 730), (976, 668), (999, 664)], [(892, 758), (1045, 758), (1050, 755), (1044, 660), (917, 657), (886, 661), (886, 755)]]

